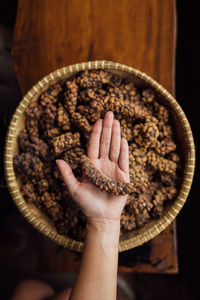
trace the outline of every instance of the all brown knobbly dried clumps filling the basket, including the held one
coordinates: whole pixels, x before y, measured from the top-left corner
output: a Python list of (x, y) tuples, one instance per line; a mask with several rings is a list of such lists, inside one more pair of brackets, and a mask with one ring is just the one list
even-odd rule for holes
[[(128, 186), (100, 174), (85, 156), (93, 124), (108, 110), (120, 121), (121, 135), (129, 143)], [(77, 179), (84, 171), (104, 191), (130, 193), (121, 232), (160, 216), (165, 202), (178, 192), (181, 162), (167, 107), (152, 89), (137, 88), (105, 70), (80, 72), (45, 91), (26, 109), (18, 144), (14, 167), (24, 198), (48, 215), (59, 233), (76, 239), (84, 239), (86, 220), (61, 179), (55, 164), (59, 157)]]

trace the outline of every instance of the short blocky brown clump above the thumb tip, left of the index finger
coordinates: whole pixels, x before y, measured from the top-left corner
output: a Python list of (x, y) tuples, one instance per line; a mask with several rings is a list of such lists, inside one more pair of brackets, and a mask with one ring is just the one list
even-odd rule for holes
[(66, 150), (71, 149), (73, 147), (79, 147), (80, 133), (67, 132), (62, 135), (59, 135), (52, 140), (52, 146), (56, 155), (59, 155), (62, 152), (65, 152)]

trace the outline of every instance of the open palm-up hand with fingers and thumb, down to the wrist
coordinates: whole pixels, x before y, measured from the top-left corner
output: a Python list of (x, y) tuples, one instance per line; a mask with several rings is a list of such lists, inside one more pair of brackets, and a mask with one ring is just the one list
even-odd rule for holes
[[(114, 180), (129, 182), (129, 150), (126, 139), (121, 139), (120, 123), (112, 112), (98, 120), (91, 132), (88, 158), (95, 167)], [(76, 204), (88, 219), (120, 220), (127, 195), (116, 196), (100, 191), (85, 176), (79, 182), (64, 160), (57, 160), (63, 180)]]

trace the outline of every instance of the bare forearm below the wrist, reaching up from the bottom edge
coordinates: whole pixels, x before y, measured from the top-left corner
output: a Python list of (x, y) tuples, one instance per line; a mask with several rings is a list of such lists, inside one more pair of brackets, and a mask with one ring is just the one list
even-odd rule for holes
[(120, 221), (87, 225), (84, 253), (70, 300), (116, 300)]

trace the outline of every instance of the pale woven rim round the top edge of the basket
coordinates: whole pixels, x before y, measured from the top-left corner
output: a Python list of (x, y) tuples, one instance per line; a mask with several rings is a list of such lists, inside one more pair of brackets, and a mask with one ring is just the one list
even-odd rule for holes
[(18, 126), (18, 121), (35, 95), (39, 96), (45, 89), (47, 89), (50, 86), (50, 84), (59, 81), (62, 78), (62, 76), (67, 78), (79, 71), (91, 69), (107, 69), (109, 71), (119, 70), (130, 75), (134, 75), (139, 80), (142, 80), (145, 84), (150, 85), (159, 94), (164, 96), (164, 98), (170, 104), (171, 108), (176, 113), (177, 117), (180, 119), (180, 123), (185, 135), (185, 140), (188, 146), (188, 153), (183, 174), (183, 182), (176, 200), (169, 208), (169, 210), (166, 211), (164, 215), (162, 215), (159, 219), (156, 220), (155, 224), (150, 226), (148, 229), (145, 229), (144, 226), (144, 229), (141, 228), (140, 232), (135, 236), (127, 240), (120, 241), (119, 252), (122, 252), (142, 245), (143, 243), (157, 236), (169, 224), (171, 224), (171, 222), (176, 218), (177, 214), (180, 212), (184, 203), (186, 202), (189, 191), (191, 189), (195, 170), (194, 139), (190, 124), (187, 120), (184, 111), (182, 110), (181, 106), (178, 104), (176, 99), (156, 80), (152, 79), (146, 73), (124, 64), (107, 60), (95, 60), (69, 65), (67, 67), (62, 67), (44, 76), (23, 96), (22, 100), (20, 101), (18, 107), (16, 108), (12, 116), (5, 141), (5, 175), (10, 193), (16, 206), (18, 207), (22, 215), (28, 220), (29, 223), (32, 224), (34, 228), (36, 228), (39, 232), (41, 232), (45, 236), (49, 237), (52, 241), (56, 242), (57, 244), (63, 247), (67, 247), (77, 252), (83, 251), (84, 242), (76, 241), (69, 237), (65, 237), (63, 235), (58, 234), (56, 230), (49, 228), (50, 226), (44, 224), (42, 220), (38, 220), (37, 216), (35, 216), (35, 214), (29, 210), (28, 205), (24, 200), (16, 181), (16, 176), (13, 167), (13, 145), (16, 142), (15, 133)]

